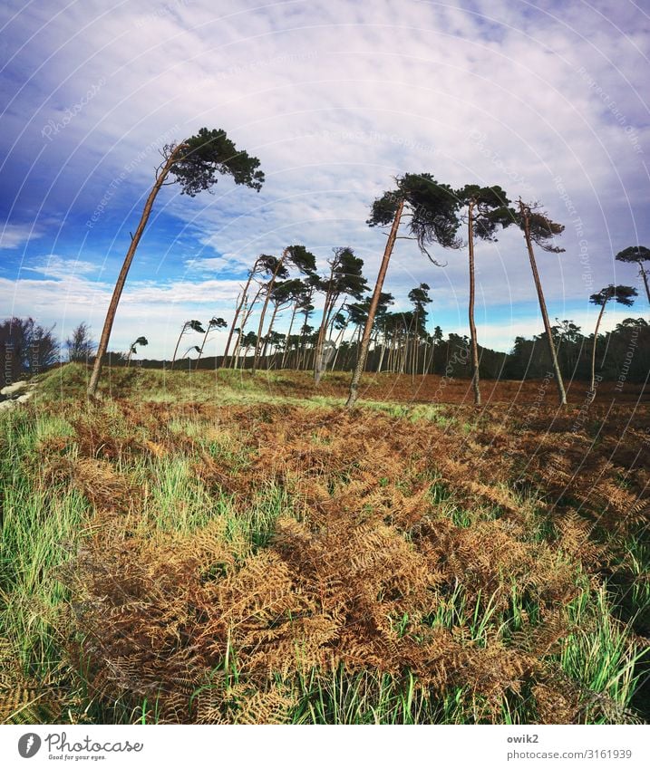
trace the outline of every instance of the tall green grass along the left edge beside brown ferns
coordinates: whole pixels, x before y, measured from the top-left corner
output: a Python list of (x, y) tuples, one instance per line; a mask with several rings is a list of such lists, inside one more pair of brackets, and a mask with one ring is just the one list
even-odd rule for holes
[(70, 435), (62, 418), (12, 409), (0, 420), (0, 637), (25, 675), (44, 675), (60, 663), (58, 615), (69, 598), (61, 570), (83, 536), (88, 504), (68, 483), (45, 483), (31, 465), (40, 440)]

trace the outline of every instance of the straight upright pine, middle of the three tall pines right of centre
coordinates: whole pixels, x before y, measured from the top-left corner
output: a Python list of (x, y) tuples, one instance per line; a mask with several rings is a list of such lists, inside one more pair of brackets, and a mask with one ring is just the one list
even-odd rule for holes
[(474, 275), (474, 239), (496, 240), (499, 226), (506, 227), (513, 221), (513, 211), (508, 207), (509, 199), (501, 187), (479, 187), (468, 184), (458, 190), (459, 204), (466, 208), (467, 241), (470, 256), (470, 320), (471, 343), (471, 386), (474, 390), (474, 404), (480, 406), (479, 342), (474, 322), (474, 300), (476, 281)]

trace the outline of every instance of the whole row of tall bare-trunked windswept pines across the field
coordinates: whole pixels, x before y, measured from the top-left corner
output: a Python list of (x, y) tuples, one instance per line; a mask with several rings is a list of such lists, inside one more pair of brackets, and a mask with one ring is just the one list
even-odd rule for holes
[[(178, 184), (181, 195), (194, 197), (200, 191), (213, 187), (221, 176), (229, 176), (236, 184), (255, 189), (257, 192), (265, 181), (264, 173), (259, 170), (259, 159), (248, 155), (244, 150), (238, 150), (223, 130), (203, 128), (188, 139), (166, 145), (161, 154), (163, 160), (156, 169), (155, 181), (139, 225), (131, 236), (131, 244), (106, 313), (93, 360), (88, 387), (90, 396), (94, 396), (96, 392), (126, 277), (160, 189), (169, 184)], [(434, 337), (435, 332), (430, 335), (425, 329), (425, 307), (431, 302), (429, 286), (420, 284), (409, 293), (413, 307), (410, 313), (388, 312), (388, 307), (394, 300), (391, 294), (383, 292), (383, 283), (396, 241), (398, 238), (408, 238), (417, 244), (424, 257), (439, 267), (444, 266), (440, 252), (466, 252), (469, 268), (467, 358), (474, 402), (480, 405), (482, 370), (480, 343), (474, 319), (476, 251), (481, 242), (494, 241), (502, 229), (515, 226), (520, 230), (526, 245), (544, 325), (544, 332), (536, 338), (536, 355), (538, 361), (548, 360), (548, 369), (552, 371), (558, 388), (558, 400), (563, 405), (567, 403), (564, 378), (568, 374), (566, 370), (563, 371), (558, 353), (562, 340), (558, 333), (554, 332), (548, 318), (536, 261), (536, 249), (552, 253), (564, 251), (555, 241), (555, 238), (562, 234), (563, 225), (552, 221), (537, 204), (525, 202), (520, 197), (513, 204), (499, 186), (467, 184), (454, 188), (438, 181), (429, 172), (405, 173), (395, 178), (393, 187), (374, 200), (366, 224), (387, 229), (379, 274), (369, 295), (365, 295), (369, 285), (362, 274), (363, 261), (354, 255), (354, 250), (349, 246), (333, 249), (325, 275), (316, 273), (315, 255), (308, 251), (305, 245), (288, 245), (280, 254), (259, 255), (248, 270), (246, 284), (238, 295), (234, 317), (229, 326), (222, 318), (212, 318), (206, 328), (196, 320), (184, 322), (172, 356), (172, 368), (179, 351), (182, 353), (180, 344), (186, 333), (201, 333), (203, 341), (200, 347), (198, 344), (190, 345), (185, 354), (181, 354), (181, 359), (187, 357), (191, 351), (198, 352), (200, 359), (209, 332), (228, 328), (226, 349), (219, 361), (222, 366), (237, 367), (241, 365), (242, 359), (246, 360), (250, 356), (252, 361), (247, 364), (247, 368), (255, 372), (262, 361), (270, 365), (270, 359), (273, 365), (279, 367), (313, 368), (317, 385), (328, 366), (348, 366), (354, 358), (348, 408), (354, 407), (358, 398), (360, 380), (368, 367), (371, 348), (376, 353), (376, 370), (409, 370), (412, 375), (435, 371), (436, 341), (441, 340), (430, 338)], [(434, 250), (439, 253), (432, 254)], [(639, 265), (650, 302), (650, 288), (645, 269), (645, 263), (650, 260), (650, 250), (644, 246), (630, 246), (616, 255), (616, 259)], [(317, 330), (309, 323), (315, 308), (315, 293), (322, 293), (324, 303)], [(617, 302), (630, 306), (636, 293), (632, 286), (610, 284), (590, 297), (590, 301), (600, 307), (588, 372), (589, 393), (592, 398), (598, 356), (598, 329), (606, 304)], [(247, 327), (254, 308), (259, 310), (257, 331)], [(286, 309), (291, 312), (291, 321), (288, 332), (281, 334), (274, 328), (274, 324), (280, 313)], [(295, 322), (297, 332), (293, 333)], [(355, 330), (353, 340), (344, 341), (345, 330), (351, 325)], [(141, 339), (144, 338), (140, 337), (134, 342), (135, 346), (131, 345), (129, 359)], [(567, 346), (568, 342), (565, 343), (565, 349)], [(516, 343), (511, 356), (516, 360), (519, 359), (519, 347)], [(540, 348), (544, 348), (544, 353), (539, 352)], [(517, 364), (511, 365), (516, 368)], [(580, 365), (584, 366), (584, 363), (581, 362)], [(485, 364), (482, 368), (485, 369)]]

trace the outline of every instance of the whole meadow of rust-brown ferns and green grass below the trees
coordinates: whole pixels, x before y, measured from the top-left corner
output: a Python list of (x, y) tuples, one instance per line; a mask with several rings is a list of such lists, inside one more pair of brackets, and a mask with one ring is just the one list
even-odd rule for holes
[(89, 374), (0, 413), (0, 720), (650, 716), (641, 388)]

